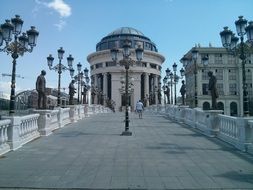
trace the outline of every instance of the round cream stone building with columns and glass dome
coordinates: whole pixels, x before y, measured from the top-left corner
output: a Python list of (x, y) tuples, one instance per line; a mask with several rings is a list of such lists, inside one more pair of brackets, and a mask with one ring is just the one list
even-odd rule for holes
[[(135, 63), (129, 68), (129, 105), (134, 110), (138, 100), (145, 106), (161, 102), (161, 68), (165, 61), (158, 53), (156, 45), (142, 32), (130, 28), (119, 28), (101, 39), (96, 52), (88, 55), (91, 74), (91, 103), (113, 105), (116, 111), (125, 109), (125, 67), (112, 60), (111, 49), (119, 48), (119, 58), (123, 59), (122, 48), (129, 40), (130, 58)], [(143, 49), (143, 58), (136, 61), (135, 49)]]

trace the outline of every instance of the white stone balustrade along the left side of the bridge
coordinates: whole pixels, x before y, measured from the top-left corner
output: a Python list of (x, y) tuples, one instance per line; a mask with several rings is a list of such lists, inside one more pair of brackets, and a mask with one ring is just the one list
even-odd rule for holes
[(101, 105), (73, 105), (55, 110), (33, 110), (26, 116), (3, 116), (0, 120), (0, 155), (16, 150), (41, 136), (96, 113), (111, 112)]

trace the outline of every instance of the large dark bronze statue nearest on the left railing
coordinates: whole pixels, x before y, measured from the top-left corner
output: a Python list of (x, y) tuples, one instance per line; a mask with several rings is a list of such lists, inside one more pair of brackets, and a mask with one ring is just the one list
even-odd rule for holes
[(46, 71), (42, 70), (41, 74), (37, 77), (37, 81), (36, 81), (36, 90), (38, 92), (38, 109), (47, 108), (45, 75), (46, 75)]

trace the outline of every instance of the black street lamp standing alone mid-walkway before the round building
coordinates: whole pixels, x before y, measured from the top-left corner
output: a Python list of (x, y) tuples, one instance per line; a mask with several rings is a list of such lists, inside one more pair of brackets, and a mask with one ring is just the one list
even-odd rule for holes
[[(129, 101), (128, 101), (128, 69), (130, 65), (134, 64), (135, 61), (130, 58), (131, 52), (131, 41), (128, 39), (124, 40), (123, 44), (123, 59), (119, 61), (120, 65), (124, 65), (126, 69), (126, 85), (125, 85), (125, 102), (126, 102), (126, 110), (125, 110), (125, 131), (122, 132), (122, 135), (125, 136), (131, 136), (132, 132), (129, 131), (129, 115), (128, 115), (128, 106), (129, 106)], [(111, 49), (111, 57), (112, 60), (117, 62), (117, 56), (118, 56), (119, 49), (117, 47)], [(135, 54), (136, 54), (136, 59), (137, 61), (141, 61), (143, 57), (143, 49), (138, 46), (137, 49), (135, 49)]]

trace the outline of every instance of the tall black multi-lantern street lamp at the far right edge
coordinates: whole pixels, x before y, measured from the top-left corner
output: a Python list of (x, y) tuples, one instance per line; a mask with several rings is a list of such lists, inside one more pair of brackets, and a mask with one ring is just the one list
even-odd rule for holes
[(245, 50), (247, 44), (244, 42), (244, 35), (247, 34), (248, 42), (253, 41), (253, 22), (250, 21), (247, 26), (248, 21), (243, 18), (243, 16), (239, 16), (239, 19), (235, 21), (237, 35), (240, 37), (240, 49), (237, 52), (237, 42), (238, 38), (233, 34), (228, 27), (224, 27), (224, 30), (220, 32), (220, 37), (222, 41), (223, 47), (225, 47), (229, 51), (233, 51), (235, 54), (239, 54), (239, 58), (242, 60), (242, 88), (243, 88), (243, 115), (249, 115), (249, 99), (247, 92), (247, 83), (246, 83), (246, 74), (245, 74), (245, 64), (246, 64), (246, 55)]

